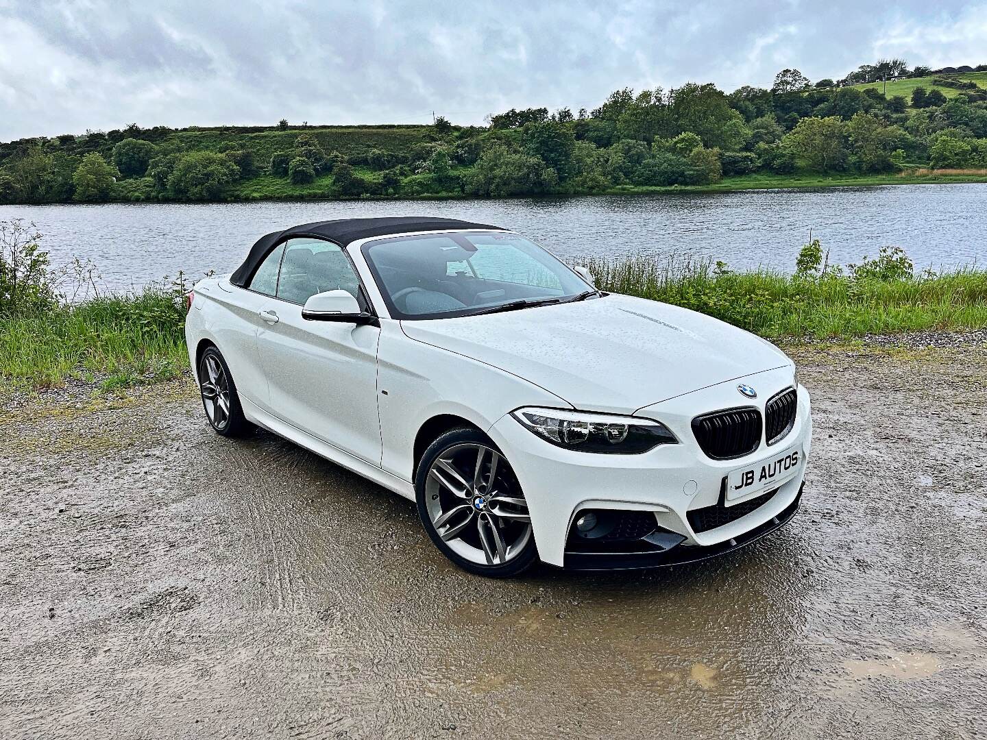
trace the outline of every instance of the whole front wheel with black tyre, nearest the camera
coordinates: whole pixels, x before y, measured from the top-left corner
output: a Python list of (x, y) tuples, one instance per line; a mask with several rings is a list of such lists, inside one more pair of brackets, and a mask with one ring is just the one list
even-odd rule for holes
[(538, 558), (531, 517), (510, 464), (478, 429), (452, 429), (421, 456), (418, 516), (443, 555), (471, 573), (507, 578)]

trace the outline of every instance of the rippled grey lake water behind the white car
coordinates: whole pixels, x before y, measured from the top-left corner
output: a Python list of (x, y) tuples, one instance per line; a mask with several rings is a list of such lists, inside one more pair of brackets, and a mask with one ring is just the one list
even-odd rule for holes
[(510, 200), (110, 203), (0, 206), (34, 221), (52, 264), (91, 259), (106, 285), (137, 287), (184, 270), (229, 272), (263, 234), (331, 218), (434, 215), (503, 226), (564, 258), (722, 259), (791, 271), (812, 236), (830, 262), (902, 247), (917, 267), (987, 260), (987, 184), (746, 190)]

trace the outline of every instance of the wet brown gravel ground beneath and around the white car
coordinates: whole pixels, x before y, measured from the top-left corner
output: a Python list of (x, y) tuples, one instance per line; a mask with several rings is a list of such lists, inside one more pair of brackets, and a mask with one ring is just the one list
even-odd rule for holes
[(984, 737), (987, 346), (877, 344), (790, 350), (791, 525), (639, 573), (465, 574), (188, 384), (8, 407), (0, 736)]

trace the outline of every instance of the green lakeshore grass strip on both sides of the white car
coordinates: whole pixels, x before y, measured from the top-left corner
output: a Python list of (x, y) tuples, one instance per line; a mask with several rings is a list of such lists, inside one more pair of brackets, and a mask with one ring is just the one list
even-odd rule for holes
[[(683, 306), (769, 338), (987, 327), (987, 270), (798, 277), (643, 257), (591, 259), (589, 268), (604, 290)], [(189, 367), (184, 322), (182, 291), (162, 286), (21, 311), (0, 322), (2, 388), (37, 390), (78, 378), (114, 393), (172, 380)]]

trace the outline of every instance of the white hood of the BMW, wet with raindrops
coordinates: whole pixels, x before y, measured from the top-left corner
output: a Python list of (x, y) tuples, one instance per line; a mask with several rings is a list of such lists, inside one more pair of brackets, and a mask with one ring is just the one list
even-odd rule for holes
[(718, 319), (624, 295), (405, 321), (402, 329), (517, 375), (573, 407), (612, 413), (791, 364), (770, 342)]

